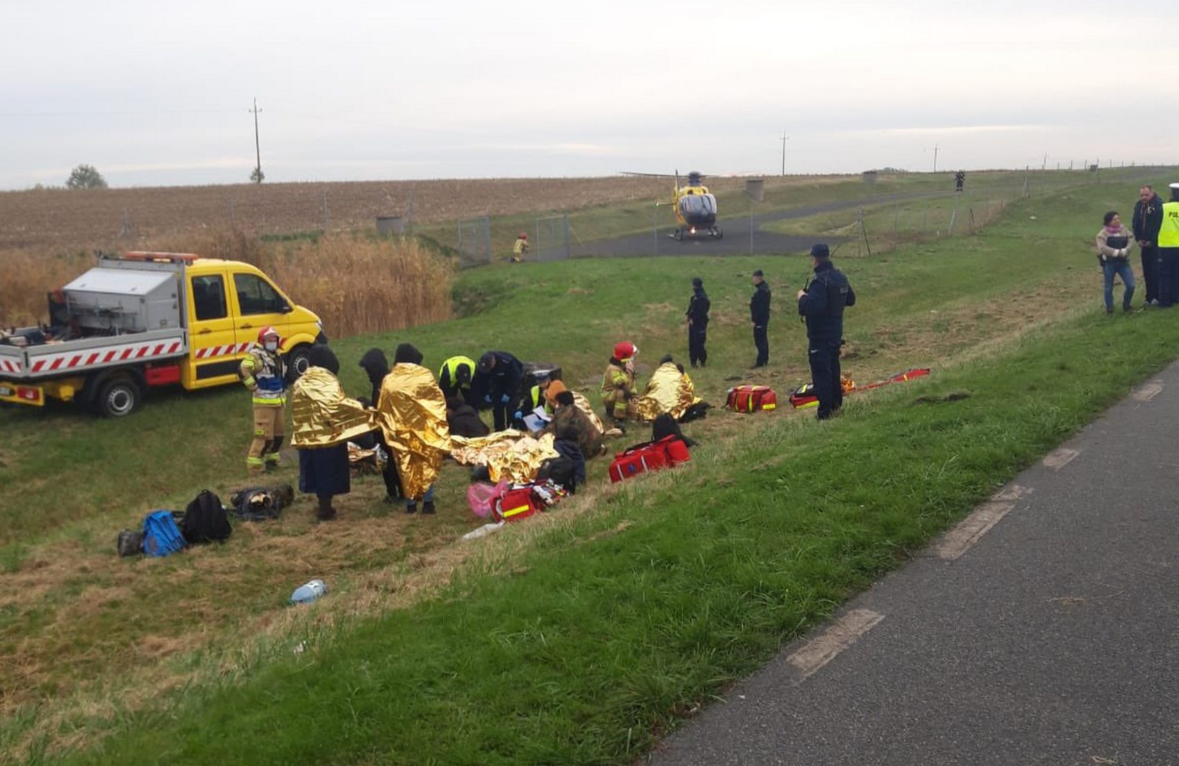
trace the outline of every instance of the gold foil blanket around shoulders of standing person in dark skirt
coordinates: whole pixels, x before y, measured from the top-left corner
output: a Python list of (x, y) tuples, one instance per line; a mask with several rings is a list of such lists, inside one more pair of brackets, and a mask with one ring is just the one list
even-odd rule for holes
[(327, 447), (376, 428), (376, 413), (344, 395), (340, 380), (323, 367), (309, 367), (291, 388), (291, 445)]

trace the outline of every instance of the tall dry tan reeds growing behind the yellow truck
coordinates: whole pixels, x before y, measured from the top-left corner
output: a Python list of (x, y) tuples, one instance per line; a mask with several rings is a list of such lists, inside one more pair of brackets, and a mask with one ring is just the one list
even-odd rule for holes
[[(331, 336), (401, 329), (450, 317), (450, 263), (411, 240), (348, 234), (263, 242), (239, 230), (164, 237), (141, 249), (245, 261), (317, 313)], [(45, 294), (93, 263), (86, 254), (0, 251), (0, 325), (46, 317)]]

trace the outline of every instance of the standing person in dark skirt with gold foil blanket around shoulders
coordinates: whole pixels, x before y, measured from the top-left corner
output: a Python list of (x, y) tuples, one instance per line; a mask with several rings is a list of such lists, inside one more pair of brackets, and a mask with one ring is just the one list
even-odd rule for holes
[(371, 431), (375, 413), (344, 395), (330, 348), (312, 346), (308, 362), (291, 388), (291, 444), (298, 450), (298, 489), (318, 498), (316, 517), (327, 522), (336, 517), (331, 498), (351, 491), (348, 440)]

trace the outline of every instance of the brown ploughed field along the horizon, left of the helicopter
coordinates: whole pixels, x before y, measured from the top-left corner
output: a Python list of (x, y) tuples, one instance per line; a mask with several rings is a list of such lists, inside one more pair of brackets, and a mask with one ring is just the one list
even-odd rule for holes
[[(744, 179), (709, 183), (723, 189)], [(665, 178), (619, 176), (7, 191), (0, 192), (0, 256), (9, 248), (126, 247), (202, 229), (290, 234), (373, 228), (376, 216), (408, 217), (410, 194), (414, 222), (429, 224), (654, 199), (668, 196), (670, 188)]]

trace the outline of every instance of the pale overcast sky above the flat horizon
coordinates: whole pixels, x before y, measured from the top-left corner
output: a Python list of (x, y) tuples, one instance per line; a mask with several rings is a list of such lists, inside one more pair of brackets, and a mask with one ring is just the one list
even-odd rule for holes
[(1179, 162), (1179, 2), (2, 4), (0, 189)]

